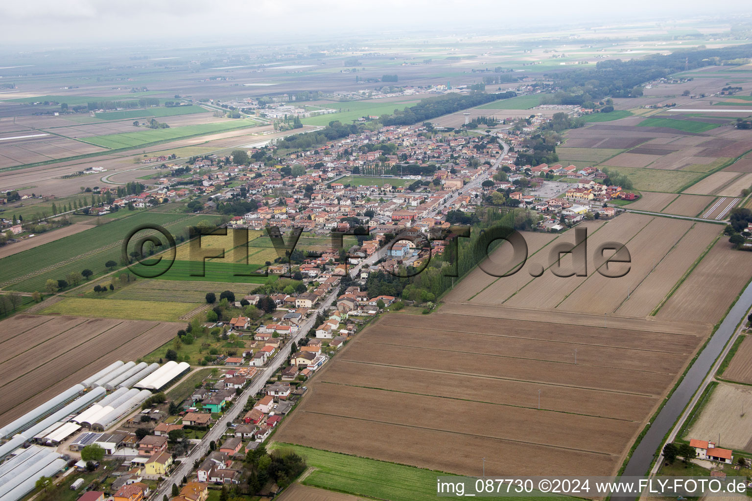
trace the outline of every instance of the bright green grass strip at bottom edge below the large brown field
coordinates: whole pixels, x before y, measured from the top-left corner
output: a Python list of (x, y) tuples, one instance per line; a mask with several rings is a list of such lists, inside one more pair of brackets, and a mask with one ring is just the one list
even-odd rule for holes
[[(293, 449), (305, 458), (314, 471), (302, 481), (311, 487), (368, 496), (390, 501), (433, 501), (436, 496), (436, 477), (447, 475), (431, 469), (387, 463), (365, 457), (347, 456), (335, 452), (274, 443), (272, 448)], [(485, 499), (511, 499), (487, 497)], [(535, 499), (534, 496), (514, 496), (514, 499)], [(550, 499), (572, 499), (564, 496)]]

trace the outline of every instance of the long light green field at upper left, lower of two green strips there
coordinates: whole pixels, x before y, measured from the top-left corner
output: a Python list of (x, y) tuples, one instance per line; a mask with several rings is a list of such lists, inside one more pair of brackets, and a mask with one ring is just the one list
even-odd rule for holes
[(110, 149), (129, 148), (144, 146), (151, 143), (159, 143), (165, 140), (177, 140), (183, 137), (201, 136), (204, 134), (214, 134), (216, 132), (233, 131), (238, 128), (249, 128), (259, 125), (250, 119), (237, 119), (231, 122), (205, 123), (199, 125), (185, 125), (184, 127), (171, 127), (149, 129), (141, 128), (134, 132), (123, 132), (121, 134), (106, 134), (104, 136), (86, 137), (83, 140), (86, 143), (103, 146)]

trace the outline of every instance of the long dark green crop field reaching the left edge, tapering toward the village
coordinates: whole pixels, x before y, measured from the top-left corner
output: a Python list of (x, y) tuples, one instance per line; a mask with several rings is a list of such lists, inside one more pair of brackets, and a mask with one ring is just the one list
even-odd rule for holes
[[(108, 273), (105, 262), (114, 260), (120, 263), (120, 244), (134, 228), (152, 223), (161, 225), (177, 237), (187, 234), (187, 227), (201, 221), (216, 222), (220, 216), (193, 216), (186, 214), (155, 213), (144, 211), (125, 219), (118, 219), (105, 225), (64, 237), (54, 242), (29, 249), (0, 259), (0, 283), (14, 279), (5, 288), (17, 291), (44, 291), (47, 279), (65, 279), (71, 272), (88, 268), (93, 277)], [(137, 237), (146, 235), (141, 232)], [(162, 237), (164, 240), (164, 237)], [(118, 265), (120, 266), (120, 265)], [(43, 273), (31, 276), (37, 270)]]

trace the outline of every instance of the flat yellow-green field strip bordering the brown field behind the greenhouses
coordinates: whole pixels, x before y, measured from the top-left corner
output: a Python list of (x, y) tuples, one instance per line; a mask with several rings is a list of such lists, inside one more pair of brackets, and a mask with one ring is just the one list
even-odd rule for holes
[(129, 320), (177, 321), (196, 308), (192, 303), (151, 301), (144, 307), (143, 301), (125, 299), (95, 299), (89, 297), (65, 297), (47, 308), (43, 315), (79, 315), (102, 318), (127, 318)]

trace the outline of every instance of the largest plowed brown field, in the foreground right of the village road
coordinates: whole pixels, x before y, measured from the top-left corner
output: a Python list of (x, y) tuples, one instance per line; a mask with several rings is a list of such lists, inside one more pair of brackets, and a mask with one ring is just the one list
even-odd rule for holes
[[(481, 457), (495, 474), (608, 474), (706, 333), (633, 322), (644, 330), (386, 315), (320, 371), (275, 438), (462, 474)], [(505, 454), (489, 463), (494, 449)]]

